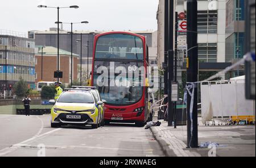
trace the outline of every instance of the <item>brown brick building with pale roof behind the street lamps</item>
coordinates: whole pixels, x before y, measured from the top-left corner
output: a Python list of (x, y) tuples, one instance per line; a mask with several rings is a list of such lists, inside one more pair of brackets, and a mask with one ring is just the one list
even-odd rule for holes
[[(57, 70), (57, 48), (44, 47), (43, 48), (43, 69), (42, 69), (42, 46), (36, 46), (35, 53), (35, 83), (39, 81), (57, 81), (53, 73)], [(59, 81), (64, 85), (71, 83), (71, 52), (59, 49), (60, 54), (60, 70), (63, 72), (63, 78)], [(77, 64), (79, 55), (73, 53), (73, 80), (77, 79)]]

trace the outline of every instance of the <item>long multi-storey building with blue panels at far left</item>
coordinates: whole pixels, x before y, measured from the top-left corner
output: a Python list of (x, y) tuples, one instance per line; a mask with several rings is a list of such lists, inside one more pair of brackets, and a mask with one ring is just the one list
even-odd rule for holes
[(35, 88), (35, 40), (25, 33), (0, 30), (0, 91), (13, 95), (14, 83), (22, 78)]

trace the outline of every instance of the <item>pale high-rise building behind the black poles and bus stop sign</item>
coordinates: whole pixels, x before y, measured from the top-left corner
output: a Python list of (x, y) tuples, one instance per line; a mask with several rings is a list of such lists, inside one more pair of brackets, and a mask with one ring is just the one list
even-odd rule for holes
[[(200, 72), (215, 73), (230, 65), (230, 63), (225, 62), (225, 4), (226, 0), (197, 1), (197, 42)], [(178, 15), (184, 16), (184, 18), (179, 18), (179, 23), (186, 21), (187, 1), (175, 1), (175, 11)], [(159, 0), (157, 19), (158, 65), (161, 67), (164, 61), (164, 0)], [(184, 25), (186, 26), (185, 23)], [(178, 65), (183, 65), (181, 66), (182, 71), (186, 70), (184, 66), (187, 58), (187, 48), (184, 45), (187, 43), (186, 40), (186, 33), (179, 31), (177, 57)], [(179, 46), (179, 43), (183, 43), (182, 46)]]

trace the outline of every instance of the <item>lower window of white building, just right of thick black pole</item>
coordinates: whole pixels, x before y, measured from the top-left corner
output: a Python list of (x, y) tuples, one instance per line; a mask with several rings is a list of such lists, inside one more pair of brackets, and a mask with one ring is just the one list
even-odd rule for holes
[(198, 44), (199, 62), (217, 62), (217, 43)]

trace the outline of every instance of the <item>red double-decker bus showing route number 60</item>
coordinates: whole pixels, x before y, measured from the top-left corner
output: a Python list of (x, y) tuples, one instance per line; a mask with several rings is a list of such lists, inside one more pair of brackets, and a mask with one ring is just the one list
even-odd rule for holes
[(146, 124), (150, 117), (147, 66), (146, 37), (130, 32), (95, 36), (91, 85), (106, 100), (105, 123)]

